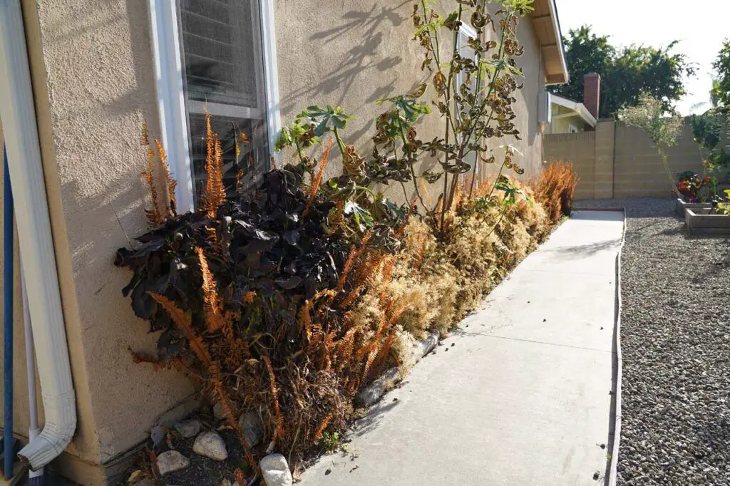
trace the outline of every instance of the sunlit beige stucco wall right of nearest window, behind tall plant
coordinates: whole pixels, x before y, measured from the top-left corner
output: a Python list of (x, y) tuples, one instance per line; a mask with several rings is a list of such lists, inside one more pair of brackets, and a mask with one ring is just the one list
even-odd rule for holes
[[(388, 104), (378, 106), (377, 101), (407, 93), (419, 82), (430, 80), (429, 73), (420, 69), (423, 49), (412, 40), (413, 4), (412, 0), (276, 1), (282, 123), (291, 123), (310, 104), (339, 105), (345, 112), (356, 115), (343, 134), (345, 142), (369, 155), (374, 119), (388, 109)], [(438, 6), (442, 12), (458, 8), (455, 1), (440, 1)], [(492, 11), (497, 9), (493, 6)], [(514, 144), (524, 155), (519, 163), (528, 177), (539, 173), (542, 161), (537, 109), (545, 70), (531, 20), (521, 20), (518, 29), (520, 42), (525, 46), (525, 54), (519, 60), (525, 73), (525, 86), (515, 94), (515, 124), (522, 140), (493, 140), (490, 145)], [(443, 39), (442, 55), (450, 54), (453, 47), (450, 41)], [(436, 99), (436, 93), (429, 85), (423, 100), (432, 99)], [(443, 136), (442, 127), (436, 112), (427, 115), (419, 127), (421, 139)], [(426, 161), (421, 170), (434, 163)], [(495, 171), (499, 167), (485, 169)], [(335, 171), (337, 167), (331, 167), (330, 174)], [(404, 199), (400, 187), (391, 187), (385, 193), (397, 201)], [(412, 196), (410, 192), (409, 198)], [(437, 193), (432, 196), (435, 198)]]

